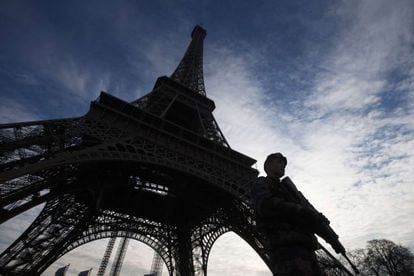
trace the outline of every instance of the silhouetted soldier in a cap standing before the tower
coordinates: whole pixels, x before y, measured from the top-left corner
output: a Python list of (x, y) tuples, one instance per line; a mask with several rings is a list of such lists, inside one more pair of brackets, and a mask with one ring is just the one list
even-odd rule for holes
[(289, 187), (281, 181), (286, 165), (281, 153), (270, 154), (264, 163), (267, 177), (259, 177), (252, 189), (258, 230), (269, 237), (272, 248), (272, 271), (278, 276), (324, 275), (316, 260), (318, 241), (314, 233), (329, 221), (289, 194)]

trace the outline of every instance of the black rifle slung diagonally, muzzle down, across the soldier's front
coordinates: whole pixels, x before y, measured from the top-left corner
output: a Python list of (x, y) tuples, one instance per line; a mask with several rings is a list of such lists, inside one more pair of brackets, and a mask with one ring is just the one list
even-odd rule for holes
[[(335, 250), (336, 253), (341, 254), (344, 256), (344, 258), (348, 261), (349, 265), (352, 267), (352, 269), (355, 271), (356, 274), (359, 274), (358, 269), (355, 267), (355, 265), (348, 259), (348, 256), (346, 256), (346, 251), (344, 246), (339, 241), (339, 236), (335, 233), (335, 231), (329, 226), (329, 220), (318, 210), (316, 210), (315, 207), (306, 199), (306, 197), (296, 188), (296, 185), (293, 183), (293, 181), (289, 177), (285, 177), (281, 181), (281, 188), (286, 192), (286, 195), (292, 200), (293, 202), (296, 202), (303, 207), (315, 212), (315, 214), (318, 216), (318, 223), (317, 225), (311, 224), (308, 225), (308, 227), (311, 227), (311, 231), (317, 234), (319, 237), (323, 238), (327, 243), (329, 243), (332, 248)], [(319, 244), (319, 247), (325, 251), (325, 253), (328, 254), (331, 258), (334, 259), (334, 261), (341, 265), (342, 268), (345, 269), (345, 271), (348, 272), (348, 274), (352, 275), (352, 273), (346, 269), (340, 263), (332, 254), (329, 253), (328, 250), (326, 250), (321, 244)]]

